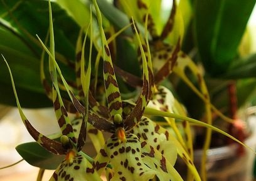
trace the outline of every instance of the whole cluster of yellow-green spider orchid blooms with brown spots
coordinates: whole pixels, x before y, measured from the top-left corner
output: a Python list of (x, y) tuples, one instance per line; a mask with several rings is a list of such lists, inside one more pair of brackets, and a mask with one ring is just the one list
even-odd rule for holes
[[(131, 9), (133, 5), (130, 3), (134, 2), (137, 2), (136, 8), (140, 12), (139, 14), (134, 12), (136, 9)], [(29, 134), (51, 154), (65, 155), (65, 159), (58, 163), (50, 180), (102, 180), (101, 176), (105, 175), (107, 180), (155, 179), (179, 181), (183, 179), (174, 169), (178, 156), (188, 165), (188, 173), (191, 175), (190, 180), (198, 181), (201, 180), (201, 177), (204, 180), (206, 176), (204, 174), (200, 176), (193, 164), (189, 123), (208, 128), (205, 150), (209, 146), (211, 130), (220, 132), (243, 146), (247, 146), (226, 132), (210, 125), (211, 109), (217, 114), (220, 114), (220, 112), (210, 103), (208, 91), (200, 71), (191, 59), (180, 50), (183, 34), (179, 34), (178, 39), (173, 39), (176, 41), (174, 47), (163, 43), (164, 39), (168, 38), (173, 31), (173, 23), (176, 22), (177, 18), (180, 18), (175, 1), (173, 1), (173, 10), (160, 35), (157, 34), (159, 31), (155, 26), (156, 23), (144, 1), (120, 1), (120, 6), (123, 7), (130, 18), (131, 24), (128, 24), (127, 27), (132, 27), (133, 41), (136, 42), (135, 47), (139, 54), (138, 61), (141, 63), (142, 78), (121, 70), (112, 62), (112, 51), (109, 44), (127, 27), (107, 39), (102, 25), (100, 9), (97, 1), (93, 0), (92, 7), (95, 8), (97, 19), (93, 19), (91, 7), (90, 23), (87, 25), (86, 31), (84, 28), (81, 29), (77, 41), (77, 60), (75, 62), (77, 77), (76, 86), (72, 86), (61, 74), (61, 69), (55, 59), (53, 17), (49, 1), (49, 48), (38, 37), (44, 49), (41, 58), (41, 82), (45, 87), (46, 94), (53, 100), (60, 134), (46, 136), (30, 124), (19, 104), (11, 69), (4, 59), (11, 75), (19, 114)], [(95, 26), (96, 22), (97, 27)], [(145, 24), (144, 32), (138, 29), (137, 24), (139, 22)], [(175, 28), (180, 27), (182, 25), (178, 27), (176, 25)], [(97, 34), (98, 31), (99, 34)], [(83, 32), (85, 32), (85, 38), (82, 41)], [(149, 38), (148, 33), (151, 38)], [(88, 57), (85, 56), (87, 36), (90, 36)], [(98, 68), (100, 58), (103, 61), (103, 76), (101, 78), (104, 82), (107, 106), (100, 104), (91, 90), (91, 87), (94, 89), (97, 87), (95, 82), (99, 82), (98, 77), (96, 77), (94, 85), (90, 82), (93, 44), (98, 51), (95, 67)], [(49, 57), (51, 86), (46, 80), (43, 67), (45, 52)], [(200, 90), (196, 89), (186, 77), (185, 69), (187, 68), (198, 78)], [(137, 82), (136, 86), (141, 86), (138, 89), (139, 95), (135, 96), (136, 98), (122, 99), (115, 72), (127, 84)], [(168, 77), (171, 72), (178, 74), (205, 101), (205, 107), (208, 110), (206, 123), (186, 117), (183, 106), (179, 104), (171, 90), (160, 85), (160, 82)], [(69, 99), (63, 98), (61, 95), (63, 91), (67, 92)], [(104, 99), (102, 97), (101, 99)], [(69, 113), (76, 114), (74, 120), (70, 119)], [(168, 125), (168, 127), (161, 126), (160, 124), (163, 122), (154, 121), (152, 116), (164, 117), (167, 121), (165, 125)], [(184, 134), (179, 132), (178, 124), (183, 127)], [(111, 136), (105, 141), (102, 132), (109, 132)], [(85, 154), (87, 147), (83, 149), (87, 135), (93, 140), (93, 145), (97, 151), (95, 157)], [(41, 167), (41, 169), (47, 168)], [(201, 172), (204, 173), (205, 170)]]

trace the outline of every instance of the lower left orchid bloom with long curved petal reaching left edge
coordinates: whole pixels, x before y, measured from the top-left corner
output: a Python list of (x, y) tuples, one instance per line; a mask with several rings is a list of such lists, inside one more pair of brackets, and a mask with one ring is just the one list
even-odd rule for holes
[[(88, 100), (85, 101), (87, 107), (84, 108), (79, 102), (73, 102), (74, 107), (78, 109), (78, 111), (82, 114), (82, 122), (80, 124), (80, 131), (78, 134), (74, 133), (72, 123), (68, 118), (67, 110), (63, 104), (63, 100), (60, 95), (60, 89), (58, 87), (57, 82), (57, 74), (56, 68), (59, 71), (59, 67), (56, 67), (55, 61), (55, 49), (54, 49), (54, 37), (53, 37), (53, 22), (51, 17), (51, 4), (49, 1), (49, 14), (50, 14), (50, 51), (45, 47), (43, 42), (40, 40), (42, 46), (45, 48), (46, 52), (49, 54), (49, 67), (50, 67), (50, 74), (51, 74), (51, 81), (53, 82), (52, 87), (52, 99), (53, 99), (53, 107), (55, 109), (55, 115), (58, 120), (58, 125), (61, 130), (61, 137), (60, 142), (49, 139), (45, 135), (41, 134), (36, 130), (28, 121), (26, 116), (21, 109), (21, 105), (19, 104), (18, 95), (16, 93), (16, 89), (14, 86), (13, 76), (11, 74), (11, 69), (6, 62), (11, 81), (13, 84), (14, 95), (16, 97), (16, 102), (19, 109), (19, 114), (21, 115), (21, 119), (23, 120), (26, 129), (28, 130), (29, 134), (41, 145), (44, 149), (48, 150), (49, 152), (56, 154), (56, 155), (65, 155), (65, 159), (60, 163), (60, 165), (56, 168), (54, 174), (52, 175), (50, 181), (60, 181), (60, 180), (102, 180), (100, 179), (100, 175), (97, 172), (92, 172), (93, 165), (90, 164), (87, 157), (81, 151), (83, 145), (85, 144), (86, 139), (86, 129), (87, 129), (87, 119), (88, 119)], [(4, 59), (4, 61), (6, 61)], [(90, 67), (90, 66), (88, 66)], [(62, 78), (61, 72), (60, 76)], [(88, 95), (88, 85), (90, 84), (90, 69), (87, 69), (87, 75), (85, 76), (87, 83), (84, 85), (85, 87), (85, 95)], [(66, 83), (66, 84), (65, 84)], [(67, 86), (67, 82), (65, 82), (65, 86)], [(70, 89), (67, 89), (70, 90)], [(70, 91), (69, 94), (73, 95)], [(76, 100), (77, 99), (72, 99)], [(78, 106), (80, 105), (80, 108)], [(82, 109), (82, 108), (83, 109)], [(87, 172), (90, 170), (90, 172)]]

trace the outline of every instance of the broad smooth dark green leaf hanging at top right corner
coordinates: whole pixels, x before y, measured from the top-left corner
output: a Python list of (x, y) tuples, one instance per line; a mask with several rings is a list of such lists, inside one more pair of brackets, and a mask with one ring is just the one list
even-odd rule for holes
[(237, 56), (255, 0), (196, 0), (195, 35), (201, 61), (211, 75), (223, 73)]

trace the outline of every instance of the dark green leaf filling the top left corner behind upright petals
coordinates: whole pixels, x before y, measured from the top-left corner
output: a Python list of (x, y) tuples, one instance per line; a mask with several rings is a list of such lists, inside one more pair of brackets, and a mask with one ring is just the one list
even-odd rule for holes
[[(10, 0), (0, 2), (0, 12), (3, 12), (4, 14), (3, 19), (17, 29), (18, 34), (23, 36), (28, 44), (40, 54), (40, 45), (36, 44), (35, 47), (35, 39), (34, 41), (29, 39), (22, 29), (28, 31), (34, 38), (36, 38), (35, 35), (38, 34), (45, 39), (48, 31), (48, 2), (21, 1), (18, 6), (14, 6), (14, 4), (16, 4), (14, 2), (17, 1)], [(52, 6), (53, 14), (55, 16), (56, 38), (61, 40), (56, 42), (56, 51), (61, 52), (65, 57), (68, 57), (68, 59), (73, 59), (75, 56), (74, 45), (79, 31), (78, 26), (55, 2), (52, 2)], [(8, 9), (11, 9), (12, 16), (9, 16), (7, 13)], [(69, 24), (68, 26), (67, 22)]]

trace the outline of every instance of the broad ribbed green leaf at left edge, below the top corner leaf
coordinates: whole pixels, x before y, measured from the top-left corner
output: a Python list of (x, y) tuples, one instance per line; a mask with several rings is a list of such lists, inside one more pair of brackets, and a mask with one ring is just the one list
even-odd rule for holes
[[(1, 54), (8, 59), (9, 66), (13, 71), (13, 77), (23, 107), (34, 108), (51, 106), (52, 104), (46, 97), (39, 80), (38, 71), (40, 64), (35, 54), (31, 52), (21, 39), (2, 27), (0, 27), (0, 39), (3, 40), (0, 41)], [(19, 51), (17, 49), (19, 49)], [(1, 104), (16, 106), (8, 69), (3, 61), (0, 61), (0, 84)]]

